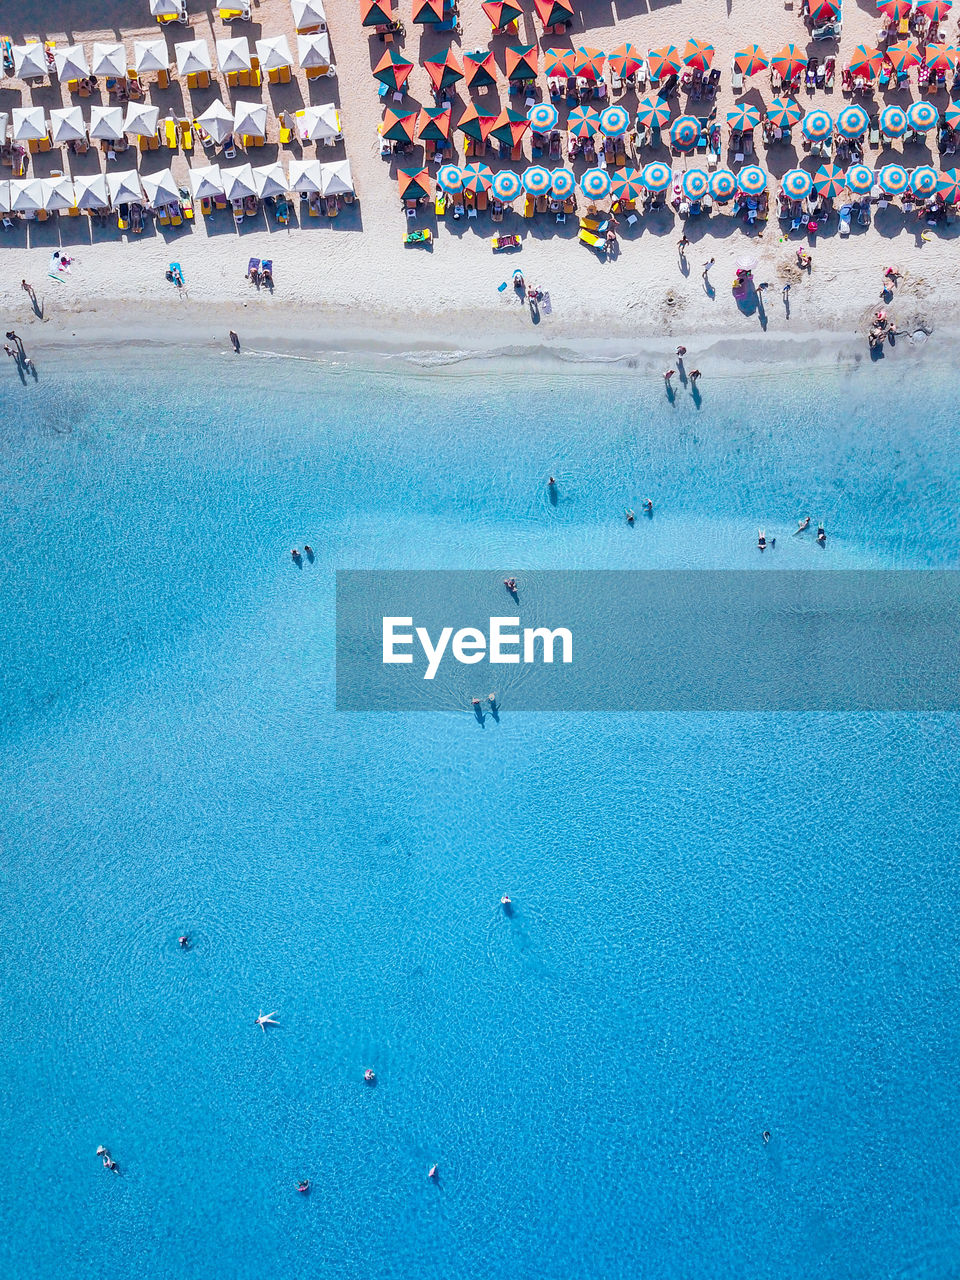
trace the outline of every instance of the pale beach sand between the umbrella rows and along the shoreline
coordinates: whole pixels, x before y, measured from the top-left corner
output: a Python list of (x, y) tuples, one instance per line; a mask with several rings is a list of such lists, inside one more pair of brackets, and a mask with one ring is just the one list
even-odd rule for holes
[[(486, 46), (490, 28), (479, 0), (462, 0), (462, 8), (461, 50)], [(773, 54), (792, 40), (820, 61), (826, 56), (837, 56), (835, 91), (814, 95), (803, 91), (800, 95), (808, 110), (813, 105), (823, 105), (836, 115), (846, 101), (840, 92), (840, 68), (858, 42), (873, 42), (877, 28), (873, 4), (860, 8), (855, 0), (845, 0), (840, 51), (832, 41), (809, 41), (799, 0), (788, 6), (782, 0), (684, 0), (682, 5), (662, 5), (652, 12), (644, 12), (643, 6), (640, 12), (632, 5), (626, 8), (627, 13), (620, 18), (616, 3), (612, 6), (581, 5), (581, 18), (570, 41), (573, 46), (588, 44), (605, 50), (623, 40), (635, 42), (641, 50), (666, 42), (677, 44), (682, 50), (687, 36), (712, 41), (717, 46), (714, 65), (723, 73), (717, 97), (721, 122), (735, 102), (730, 87), (731, 58), (744, 44), (755, 41), (767, 54)], [(146, 17), (146, 0), (142, 13)], [(408, 4), (402, 3), (399, 13), (407, 26), (407, 38), (401, 47), (412, 61), (420, 64), (424, 56), (433, 55), (448, 42), (449, 36), (438, 37), (430, 28), (424, 33), (424, 28), (412, 24)], [(256, 22), (252, 24), (233, 24), (233, 33), (248, 35), (252, 44), (261, 35), (285, 32), (291, 47), (296, 50), (287, 0), (262, 0), (253, 17)], [(655, 339), (663, 335), (663, 346), (669, 351), (669, 335), (686, 338), (712, 333), (741, 338), (760, 334), (758, 315), (742, 315), (731, 296), (733, 268), (744, 256), (755, 260), (755, 280), (769, 282), (765, 332), (781, 342), (788, 334), (863, 333), (867, 319), (878, 305), (882, 269), (891, 262), (899, 265), (905, 276), (896, 301), (888, 308), (899, 326), (933, 329), (952, 319), (952, 300), (960, 275), (960, 260), (952, 243), (954, 228), (937, 229), (931, 241), (922, 242), (923, 224), (918, 224), (914, 215), (908, 219), (895, 206), (874, 211), (874, 225), (869, 229), (855, 225), (847, 239), (837, 236), (833, 219), (828, 234), (819, 237), (812, 247), (814, 265), (809, 279), (801, 278), (794, 268), (796, 243), (806, 242), (794, 237), (795, 243), (785, 243), (776, 216), (760, 232), (723, 215), (682, 223), (668, 209), (655, 216), (641, 216), (634, 228), (623, 228), (620, 256), (609, 262), (598, 260), (576, 242), (575, 220), (561, 229), (549, 215), (532, 223), (511, 215), (504, 219), (502, 230), (522, 230), (525, 236), (524, 250), (515, 256), (492, 253), (494, 228), (483, 214), (475, 221), (440, 224), (431, 252), (404, 247), (404, 220), (393, 177), (396, 169), (380, 159), (375, 133), (381, 118), (381, 102), (370, 68), (381, 56), (384, 46), (361, 28), (356, 0), (328, 0), (328, 20), (338, 69), (335, 79), (308, 83), (300, 73), (297, 82), (289, 86), (264, 84), (260, 91), (223, 88), (223, 96), (230, 101), (248, 100), (260, 93), (264, 101), (271, 104), (269, 145), (251, 152), (253, 164), (266, 164), (279, 152), (275, 110), (296, 109), (311, 101), (337, 101), (343, 116), (346, 155), (360, 195), (356, 212), (346, 212), (334, 224), (328, 219), (305, 216), (302, 228), (289, 230), (275, 224), (268, 227), (264, 218), (247, 219), (239, 236), (229, 212), (216, 215), (209, 224), (197, 214), (189, 230), (166, 237), (152, 229), (142, 237), (120, 237), (113, 228), (97, 230), (93, 243), (86, 218), (54, 216), (45, 225), (31, 224), (29, 230), (20, 227), (14, 232), (1, 232), (0, 305), (4, 315), (10, 317), (8, 323), (15, 323), (18, 332), (24, 333), (32, 324), (32, 339), (42, 335), (47, 340), (69, 340), (73, 334), (83, 340), (95, 330), (128, 334), (155, 317), (168, 339), (182, 332), (192, 337), (209, 333), (219, 340), (232, 326), (242, 337), (256, 333), (259, 339), (273, 337), (282, 343), (297, 335), (312, 340), (321, 326), (326, 326), (333, 338), (347, 332), (356, 337), (369, 325), (378, 333), (392, 333), (398, 344), (411, 346), (448, 340), (490, 347), (521, 335), (527, 339), (534, 337), (544, 344), (573, 338), (602, 340), (646, 335)], [(147, 26), (145, 22), (140, 31), (127, 32), (128, 51), (136, 36), (156, 36), (157, 29), (156, 24)], [(195, 35), (206, 38), (214, 54), (216, 37), (228, 33), (216, 9), (212, 9), (197, 17), (189, 28), (177, 26), (173, 31), (168, 29), (168, 41), (173, 45)], [(37, 35), (67, 42), (63, 31)], [(70, 36), (83, 42), (88, 52), (92, 40), (113, 38), (109, 32), (82, 29), (72, 31)], [(955, 19), (948, 23), (948, 37), (956, 37)], [(522, 22), (521, 38), (536, 41), (541, 47), (564, 44), (561, 37), (543, 36), (532, 10)], [(504, 37), (494, 41), (499, 63), (502, 49), (508, 42)], [(768, 102), (773, 96), (767, 74), (749, 79), (746, 88), (744, 96), (758, 104)], [(148, 97), (160, 106), (163, 118), (166, 114), (197, 114), (216, 93), (214, 87), (212, 91), (195, 93), (191, 100), (186, 86), (180, 90), (174, 83), (166, 92), (152, 88)], [(913, 95), (868, 97), (864, 105), (868, 110), (886, 102), (905, 105), (915, 93), (914, 84)], [(495, 95), (486, 97), (493, 101)], [(946, 102), (945, 93), (931, 99), (941, 109)], [(42, 104), (47, 110), (58, 106), (61, 102), (60, 88), (54, 82), (31, 91), (18, 81), (0, 81), (0, 110), (9, 111), (12, 106), (31, 101)], [(84, 115), (88, 115), (90, 101), (83, 102)], [(429, 79), (421, 65), (415, 67), (411, 99), (407, 101), (431, 102)], [(454, 122), (465, 101), (462, 93), (454, 100)], [(506, 101), (504, 83), (500, 104)], [(636, 96), (631, 92), (622, 101), (632, 113)], [(682, 108), (685, 95), (678, 102)], [(691, 104), (691, 110), (705, 114), (707, 106)], [(726, 163), (726, 125), (722, 132)], [(799, 157), (790, 146), (773, 147), (764, 155), (758, 131), (758, 161), (774, 174), (786, 172), (805, 154), (800, 150), (799, 129), (795, 134)], [(460, 134), (457, 140), (461, 146)], [(936, 131), (929, 141), (936, 146)], [(529, 142), (526, 148), (529, 154)], [(306, 150), (314, 154), (312, 147)], [(301, 154), (298, 146), (283, 148), (280, 154), (284, 152), (288, 157)], [(343, 147), (319, 148), (321, 160), (338, 159), (343, 154)], [(403, 163), (411, 164), (419, 155)], [(653, 154), (644, 150), (637, 159), (643, 164), (655, 157), (664, 159), (666, 151)], [(865, 159), (877, 166), (893, 160), (908, 168), (937, 163), (936, 151), (931, 152), (923, 145), (908, 146), (906, 154), (899, 145), (868, 151)], [(234, 163), (239, 160), (242, 155)], [(31, 172), (44, 174), (50, 169), (69, 169), (70, 165), (73, 172), (90, 172), (100, 163), (95, 152), (73, 157), (52, 151), (46, 156), (35, 156)], [(143, 159), (142, 168), (148, 172), (170, 163), (186, 186), (188, 160), (179, 152), (173, 159), (165, 148), (152, 152)], [(202, 152), (195, 154), (189, 163), (205, 163)], [(499, 165), (498, 160), (490, 163), (494, 169)], [(682, 160), (672, 163), (675, 168), (684, 165)], [(122, 159), (114, 168), (125, 168), (127, 164)], [(4, 174), (9, 175), (9, 170)], [(774, 184), (771, 186), (773, 191)], [(433, 214), (419, 225), (435, 227)], [(694, 242), (687, 250), (686, 274), (678, 266), (676, 251), (684, 228)], [(64, 284), (46, 279), (50, 252), (55, 247), (65, 247), (76, 257), (73, 271)], [(251, 256), (273, 259), (276, 284), (273, 294), (257, 293), (244, 280)], [(701, 280), (701, 266), (709, 257), (716, 257), (710, 276), (716, 294), (712, 297), (704, 291)], [(182, 297), (164, 279), (170, 260), (183, 265), (187, 288)], [(522, 266), (527, 283), (549, 293), (550, 312), (541, 316), (535, 330), (531, 330), (529, 311), (517, 302), (513, 291), (498, 292), (497, 288), (511, 278), (515, 266)], [(29, 303), (20, 289), (22, 278), (31, 280), (44, 300), (42, 323), (31, 321)], [(781, 297), (785, 280), (792, 284), (788, 317)]]

